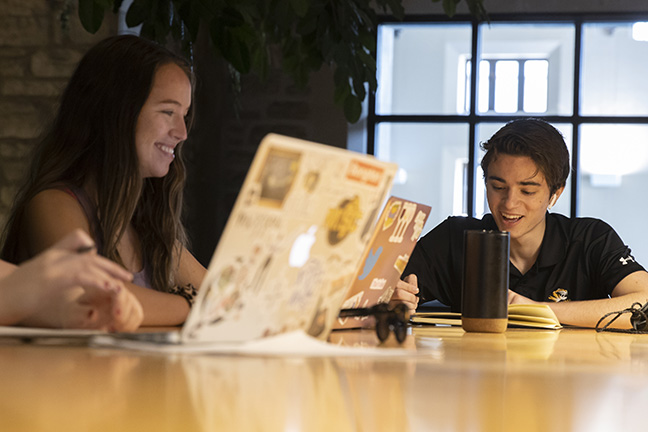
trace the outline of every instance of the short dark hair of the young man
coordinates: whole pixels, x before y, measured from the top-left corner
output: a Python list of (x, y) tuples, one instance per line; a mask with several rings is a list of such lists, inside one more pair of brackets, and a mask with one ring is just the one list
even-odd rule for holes
[(565, 140), (544, 120), (513, 120), (481, 143), (481, 148), (486, 151), (481, 161), (484, 178), (488, 178), (488, 167), (499, 154), (530, 157), (544, 175), (551, 195), (565, 186), (569, 176), (569, 151)]

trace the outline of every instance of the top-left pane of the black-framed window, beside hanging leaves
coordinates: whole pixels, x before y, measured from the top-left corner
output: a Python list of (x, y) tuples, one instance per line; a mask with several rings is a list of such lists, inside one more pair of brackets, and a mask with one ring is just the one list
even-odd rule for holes
[(381, 25), (376, 112), (463, 114), (471, 35), (467, 23)]

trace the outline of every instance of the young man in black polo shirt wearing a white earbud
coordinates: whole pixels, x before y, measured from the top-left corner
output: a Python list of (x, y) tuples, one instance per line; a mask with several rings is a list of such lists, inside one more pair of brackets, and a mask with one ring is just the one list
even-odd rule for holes
[[(392, 301), (415, 309), (419, 297), (437, 299), (459, 311), (463, 232), (475, 229), (510, 233), (509, 303), (546, 303), (561, 323), (594, 327), (607, 312), (648, 301), (648, 273), (609, 225), (547, 211), (570, 170), (560, 132), (541, 120), (516, 120), (482, 147), (491, 214), (450, 217), (424, 236), (403, 273), (411, 279)], [(629, 328), (628, 317), (615, 324)]]

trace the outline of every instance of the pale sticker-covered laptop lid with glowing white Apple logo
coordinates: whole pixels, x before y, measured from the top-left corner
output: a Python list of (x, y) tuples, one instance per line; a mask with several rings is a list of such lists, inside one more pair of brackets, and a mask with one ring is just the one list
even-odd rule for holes
[(267, 135), (229, 216), (183, 342), (244, 342), (303, 329), (326, 339), (397, 166)]

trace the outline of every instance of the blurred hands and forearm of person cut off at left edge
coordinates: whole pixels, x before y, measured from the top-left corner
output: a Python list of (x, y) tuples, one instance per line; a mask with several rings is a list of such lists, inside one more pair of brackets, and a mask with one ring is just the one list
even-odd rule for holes
[(132, 276), (76, 230), (19, 267), (0, 261), (0, 325), (135, 330), (142, 307), (123, 286)]

